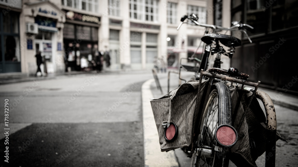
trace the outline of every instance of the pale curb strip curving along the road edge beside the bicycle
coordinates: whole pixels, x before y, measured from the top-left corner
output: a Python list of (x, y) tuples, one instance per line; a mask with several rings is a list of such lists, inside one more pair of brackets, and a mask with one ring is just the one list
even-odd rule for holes
[(179, 166), (173, 151), (161, 152), (159, 137), (151, 109), (150, 98), (153, 94), (150, 85), (154, 79), (149, 79), (142, 85), (143, 133), (144, 133), (144, 161), (145, 167)]

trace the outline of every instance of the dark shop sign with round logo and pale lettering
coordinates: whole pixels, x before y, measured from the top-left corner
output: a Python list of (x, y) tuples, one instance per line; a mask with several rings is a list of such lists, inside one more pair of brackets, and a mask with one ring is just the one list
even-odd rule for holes
[(66, 19), (100, 24), (100, 17), (84, 15), (84, 14), (72, 12), (72, 11), (66, 11)]

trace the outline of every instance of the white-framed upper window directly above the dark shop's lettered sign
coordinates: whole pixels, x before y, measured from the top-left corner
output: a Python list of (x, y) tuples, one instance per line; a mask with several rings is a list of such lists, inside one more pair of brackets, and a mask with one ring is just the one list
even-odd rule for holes
[(98, 0), (62, 0), (62, 5), (90, 12), (98, 12)]

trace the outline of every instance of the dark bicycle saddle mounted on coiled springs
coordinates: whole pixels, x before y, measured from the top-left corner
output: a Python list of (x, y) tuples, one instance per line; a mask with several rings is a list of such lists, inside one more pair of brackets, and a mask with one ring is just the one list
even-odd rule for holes
[(230, 35), (225, 35), (225, 34), (218, 34), (218, 33), (205, 34), (201, 40), (209, 45), (216, 39), (219, 40), (223, 45), (227, 47), (241, 46), (241, 41), (238, 38)]

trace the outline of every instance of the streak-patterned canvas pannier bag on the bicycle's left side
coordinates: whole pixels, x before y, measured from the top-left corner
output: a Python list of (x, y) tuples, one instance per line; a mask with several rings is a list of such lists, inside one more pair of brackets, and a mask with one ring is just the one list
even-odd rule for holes
[[(205, 89), (208, 81), (202, 80), (201, 91)], [(198, 85), (198, 81), (191, 80), (169, 94), (150, 101), (162, 152), (192, 144), (193, 120), (194, 116), (197, 115), (197, 113), (195, 114), (195, 103)], [(203, 97), (204, 99), (205, 97)], [(172, 142), (166, 141), (164, 137), (165, 128), (162, 126), (162, 124), (170, 122), (176, 124), (178, 129), (178, 136)]]

